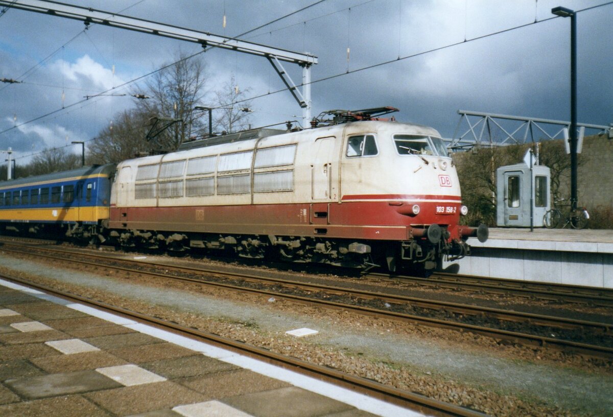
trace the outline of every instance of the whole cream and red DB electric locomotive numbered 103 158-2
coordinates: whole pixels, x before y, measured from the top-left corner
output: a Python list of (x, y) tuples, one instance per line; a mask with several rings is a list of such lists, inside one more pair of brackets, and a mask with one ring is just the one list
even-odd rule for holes
[(332, 111), (311, 129), (251, 130), (126, 160), (101, 225), (123, 246), (440, 268), (487, 228), (459, 225), (466, 207), (440, 134), (373, 118), (390, 110)]

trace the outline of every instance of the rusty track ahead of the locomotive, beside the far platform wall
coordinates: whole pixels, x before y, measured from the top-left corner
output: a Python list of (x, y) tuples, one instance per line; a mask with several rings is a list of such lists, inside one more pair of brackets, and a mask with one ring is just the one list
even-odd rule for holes
[(573, 302), (590, 306), (613, 307), (613, 290), (535, 281), (497, 279), (459, 274), (435, 273), (428, 278), (383, 273), (368, 274), (371, 277), (402, 280), (405, 284), (447, 290), (473, 291), (492, 295), (511, 295), (554, 302)]

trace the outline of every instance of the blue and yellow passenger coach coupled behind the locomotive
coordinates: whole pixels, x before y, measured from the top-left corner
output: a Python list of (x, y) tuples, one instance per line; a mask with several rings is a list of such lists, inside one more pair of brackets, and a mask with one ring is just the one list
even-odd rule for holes
[(95, 236), (109, 218), (113, 173), (113, 164), (94, 165), (0, 182), (0, 233)]

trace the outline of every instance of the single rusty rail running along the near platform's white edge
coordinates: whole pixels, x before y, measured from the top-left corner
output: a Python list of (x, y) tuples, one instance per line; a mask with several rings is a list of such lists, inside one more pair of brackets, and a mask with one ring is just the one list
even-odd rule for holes
[(337, 385), (345, 386), (354, 391), (367, 394), (369, 396), (378, 397), (392, 404), (397, 404), (402, 407), (411, 408), (413, 410), (427, 413), (428, 415), (436, 415), (442, 417), (487, 417), (479, 411), (471, 410), (465, 407), (459, 407), (454, 404), (449, 404), (440, 400), (428, 398), (420, 394), (411, 393), (402, 389), (397, 389), (391, 386), (383, 385), (368, 378), (356, 377), (355, 375), (345, 374), (338, 370), (326, 366), (320, 366), (307, 361), (303, 361), (292, 356), (280, 355), (265, 348), (245, 344), (240, 340), (232, 340), (213, 333), (202, 332), (187, 326), (181, 326), (171, 321), (162, 320), (158, 317), (142, 314), (132, 310), (123, 309), (121, 307), (112, 306), (103, 302), (94, 301), (82, 296), (59, 291), (47, 285), (40, 285), (28, 280), (17, 277), (0, 275), (2, 279), (25, 285), (26, 287), (34, 288), (39, 291), (44, 291), (50, 295), (59, 296), (69, 301), (77, 301), (97, 309), (104, 310), (113, 314), (118, 314), (131, 320), (139, 321), (148, 325), (154, 325), (158, 328), (172, 331), (181, 336), (191, 337), (192, 339), (215, 345), (216, 347), (225, 348), (235, 351), (242, 355), (252, 358), (261, 359), (268, 363), (273, 363), (277, 366), (291, 369), (294, 372), (300, 372), (311, 377), (316, 377), (321, 380), (330, 381)]

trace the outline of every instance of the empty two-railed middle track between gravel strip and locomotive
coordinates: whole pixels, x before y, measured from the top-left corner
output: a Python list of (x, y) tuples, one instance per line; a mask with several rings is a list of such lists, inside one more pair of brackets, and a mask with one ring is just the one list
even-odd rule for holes
[[(31, 255), (32, 246), (2, 249)], [(26, 252), (23, 252), (26, 250)], [(187, 268), (185, 266), (155, 265), (142, 261), (118, 259), (109, 255), (78, 254), (66, 250), (36, 247), (48, 251), (54, 260), (97, 268), (116, 269), (129, 274), (192, 282), (199, 285), (245, 291), (259, 295), (290, 299), (294, 302), (317, 304), (332, 309), (351, 310), (359, 314), (402, 320), (414, 325), (433, 326), (454, 331), (473, 332), (482, 336), (514, 344), (550, 347), (568, 353), (613, 359), (613, 325), (585, 320), (528, 314), (511, 310), (492, 309), (454, 302), (433, 301), (373, 291), (352, 290), (346, 287), (307, 284), (294, 280), (232, 274), (216, 269)], [(77, 260), (79, 256), (84, 259)], [(96, 259), (96, 262), (92, 261)], [(120, 266), (122, 264), (124, 266)], [(160, 272), (160, 271), (163, 272)]]

